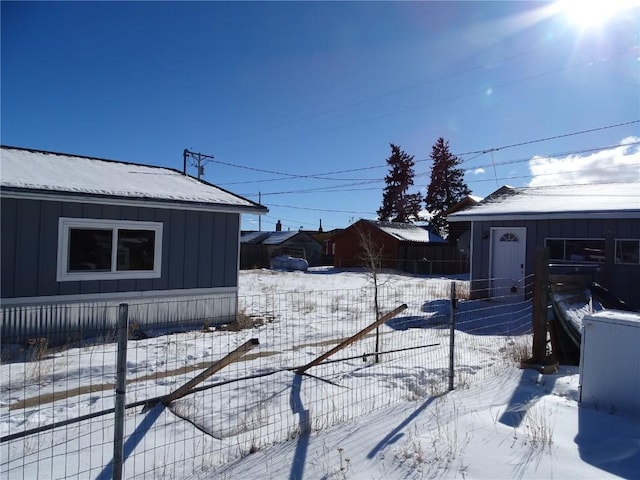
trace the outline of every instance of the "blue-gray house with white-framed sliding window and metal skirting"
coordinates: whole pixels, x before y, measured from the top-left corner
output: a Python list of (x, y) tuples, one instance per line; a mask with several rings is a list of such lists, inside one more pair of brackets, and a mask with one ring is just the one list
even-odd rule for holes
[(240, 215), (259, 204), (180, 171), (2, 147), (2, 341), (236, 316)]

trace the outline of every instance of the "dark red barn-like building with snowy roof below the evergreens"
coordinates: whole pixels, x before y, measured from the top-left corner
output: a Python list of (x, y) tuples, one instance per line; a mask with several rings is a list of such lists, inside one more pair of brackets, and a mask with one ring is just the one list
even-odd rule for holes
[(410, 273), (453, 273), (454, 246), (429, 229), (406, 223), (358, 220), (329, 241), (335, 267), (362, 266), (362, 237), (381, 248), (382, 267)]

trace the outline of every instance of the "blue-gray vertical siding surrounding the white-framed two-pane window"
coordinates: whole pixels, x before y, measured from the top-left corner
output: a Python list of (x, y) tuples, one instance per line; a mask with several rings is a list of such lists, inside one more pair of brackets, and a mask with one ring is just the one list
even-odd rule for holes
[[(56, 257), (61, 216), (162, 222), (161, 277), (58, 282)], [(237, 287), (237, 213), (3, 198), (0, 218), (3, 299)]]

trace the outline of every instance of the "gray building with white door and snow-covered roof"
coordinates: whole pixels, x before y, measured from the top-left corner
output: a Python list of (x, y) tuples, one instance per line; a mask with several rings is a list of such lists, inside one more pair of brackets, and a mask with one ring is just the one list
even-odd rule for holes
[(546, 246), (551, 262), (592, 267), (594, 280), (640, 307), (640, 183), (502, 187), (448, 220), (471, 223), (476, 296), (524, 297)]

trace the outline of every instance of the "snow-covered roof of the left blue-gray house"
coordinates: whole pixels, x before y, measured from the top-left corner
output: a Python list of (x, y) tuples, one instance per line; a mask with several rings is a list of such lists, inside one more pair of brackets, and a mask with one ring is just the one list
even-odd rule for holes
[(2, 147), (0, 186), (22, 191), (266, 208), (169, 168)]

